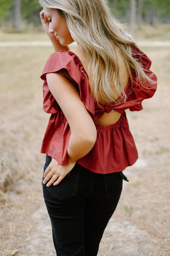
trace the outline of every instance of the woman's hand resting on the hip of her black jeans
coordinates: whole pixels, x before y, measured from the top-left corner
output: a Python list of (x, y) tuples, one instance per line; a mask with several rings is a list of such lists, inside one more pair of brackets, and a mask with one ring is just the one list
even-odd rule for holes
[(52, 158), (52, 162), (48, 165), (44, 172), (44, 181), (47, 187), (50, 185), (58, 185), (64, 177), (73, 169), (75, 163), (69, 163), (67, 165), (59, 165), (57, 161)]

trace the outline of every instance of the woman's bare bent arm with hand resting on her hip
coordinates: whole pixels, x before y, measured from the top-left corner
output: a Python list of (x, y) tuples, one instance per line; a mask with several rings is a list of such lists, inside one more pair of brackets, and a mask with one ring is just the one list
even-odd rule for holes
[[(75, 86), (63, 76), (62, 73), (50, 73), (46, 75), (50, 92), (52, 92), (58, 105), (60, 105), (71, 129), (71, 137), (67, 148), (68, 165), (58, 165), (55, 159), (47, 167), (45, 171), (47, 185), (54, 185), (69, 173), (75, 162), (81, 157), (87, 155), (96, 142), (96, 126), (90, 114), (88, 113), (84, 103), (80, 100), (80, 94)], [(53, 171), (51, 171), (53, 169)]]

